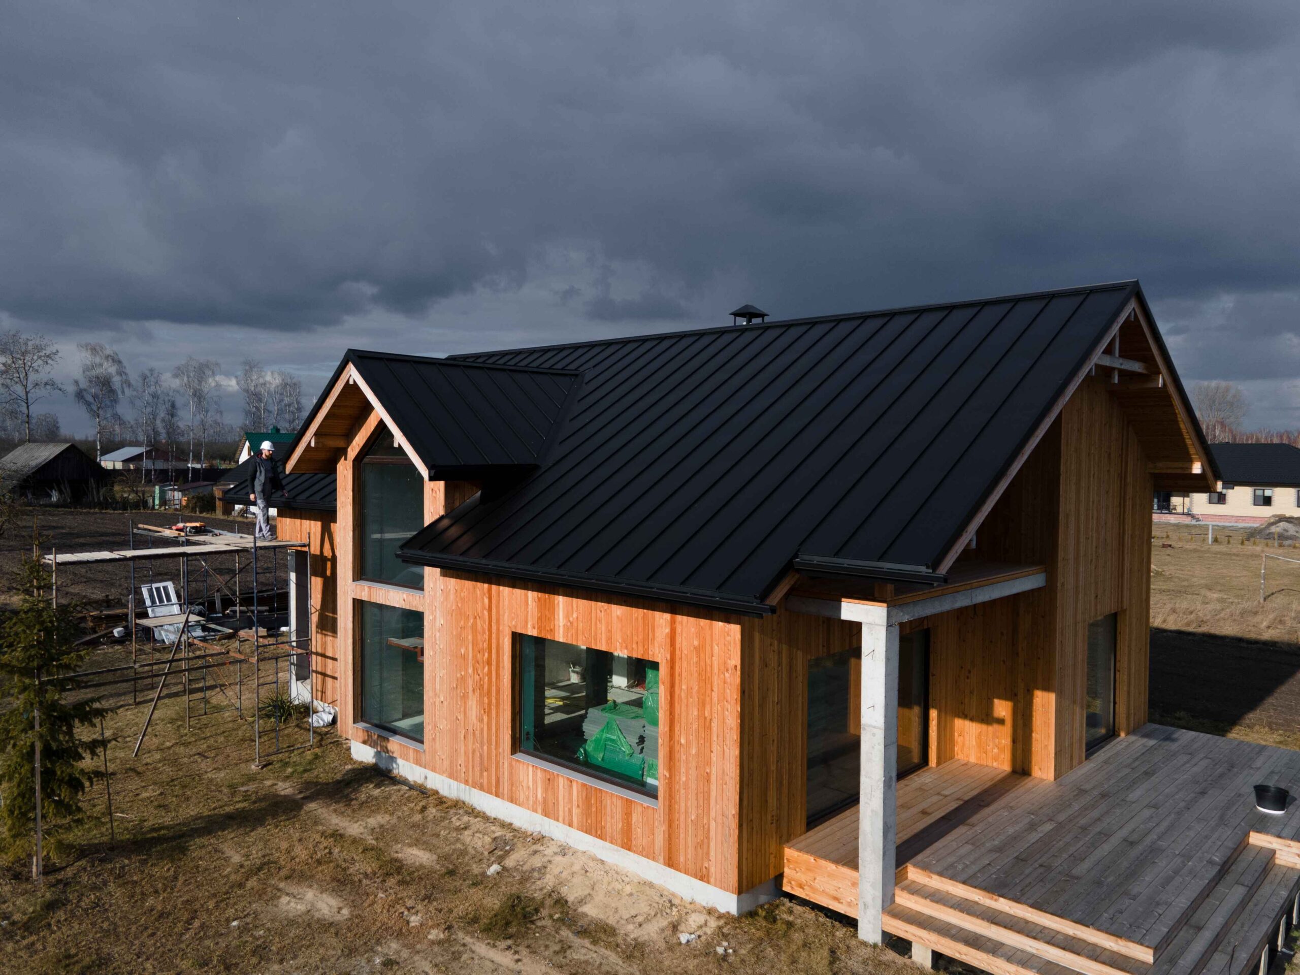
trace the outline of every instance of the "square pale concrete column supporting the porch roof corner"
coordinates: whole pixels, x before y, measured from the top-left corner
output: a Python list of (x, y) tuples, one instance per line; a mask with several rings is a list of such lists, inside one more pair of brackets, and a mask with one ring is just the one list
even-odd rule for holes
[(858, 805), (858, 937), (879, 944), (893, 904), (898, 800), (898, 625), (863, 607), (862, 781)]

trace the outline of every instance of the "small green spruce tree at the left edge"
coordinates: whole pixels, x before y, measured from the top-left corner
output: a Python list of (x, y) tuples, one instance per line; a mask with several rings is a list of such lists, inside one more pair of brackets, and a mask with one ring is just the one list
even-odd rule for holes
[(62, 857), (68, 835), (82, 820), (82, 797), (101, 775), (86, 762), (104, 744), (78, 738), (105, 708), (96, 699), (70, 701), (74, 675), (88, 649), (78, 647), (73, 606), (55, 606), (49, 569), (38, 558), (23, 558), (14, 573), (20, 606), (0, 624), (0, 679), (9, 706), (0, 714), (0, 840), (5, 858), (35, 857), (35, 714), (40, 714), (40, 818), (43, 853)]

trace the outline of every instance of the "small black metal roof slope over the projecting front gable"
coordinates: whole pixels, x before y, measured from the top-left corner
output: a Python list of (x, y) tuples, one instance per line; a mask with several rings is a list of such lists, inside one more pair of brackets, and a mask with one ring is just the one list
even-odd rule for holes
[(581, 385), (572, 370), (512, 363), (356, 350), (343, 361), (352, 363), (430, 477), (436, 471), (454, 478), (543, 463)]

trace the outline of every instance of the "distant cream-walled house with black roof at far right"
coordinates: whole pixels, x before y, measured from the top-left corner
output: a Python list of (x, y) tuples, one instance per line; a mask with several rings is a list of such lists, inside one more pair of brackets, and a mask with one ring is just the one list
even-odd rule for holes
[(1212, 443), (1223, 478), (1214, 491), (1156, 491), (1156, 521), (1260, 525), (1300, 517), (1300, 447), (1290, 443)]

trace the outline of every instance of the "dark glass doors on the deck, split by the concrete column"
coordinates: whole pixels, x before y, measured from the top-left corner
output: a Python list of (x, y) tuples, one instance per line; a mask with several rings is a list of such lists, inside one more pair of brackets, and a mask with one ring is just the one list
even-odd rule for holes
[[(862, 651), (809, 660), (807, 824), (858, 802), (862, 788)], [(898, 638), (898, 776), (924, 766), (930, 731), (930, 630)]]

